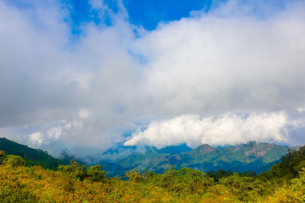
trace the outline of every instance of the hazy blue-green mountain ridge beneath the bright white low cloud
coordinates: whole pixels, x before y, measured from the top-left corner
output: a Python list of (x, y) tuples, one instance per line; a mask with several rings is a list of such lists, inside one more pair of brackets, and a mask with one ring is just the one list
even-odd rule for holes
[(288, 149), (289, 147), (258, 142), (249, 142), (229, 148), (213, 148), (205, 144), (191, 151), (178, 151), (178, 153), (146, 148), (145, 154), (134, 153), (117, 159), (114, 163), (126, 169), (146, 169), (155, 172), (163, 172), (170, 166), (175, 166), (176, 169), (192, 167), (206, 171), (231, 169), (236, 172), (249, 170), (260, 173), (280, 161)]

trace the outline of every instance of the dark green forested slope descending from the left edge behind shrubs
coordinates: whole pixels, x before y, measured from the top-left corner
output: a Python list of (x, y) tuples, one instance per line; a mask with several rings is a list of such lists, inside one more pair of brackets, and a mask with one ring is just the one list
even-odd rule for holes
[(41, 149), (29, 148), (26, 145), (18, 144), (6, 138), (0, 138), (0, 150), (6, 154), (19, 155), (26, 160), (27, 166), (42, 166), (47, 169), (57, 169), (62, 164), (60, 159), (56, 159)]

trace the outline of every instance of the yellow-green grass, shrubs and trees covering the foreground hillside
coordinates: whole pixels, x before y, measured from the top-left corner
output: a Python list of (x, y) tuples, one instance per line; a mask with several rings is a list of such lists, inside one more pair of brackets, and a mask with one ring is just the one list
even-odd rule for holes
[(107, 178), (100, 165), (27, 166), (0, 151), (0, 203), (304, 203), (305, 146), (255, 174), (170, 167)]

